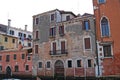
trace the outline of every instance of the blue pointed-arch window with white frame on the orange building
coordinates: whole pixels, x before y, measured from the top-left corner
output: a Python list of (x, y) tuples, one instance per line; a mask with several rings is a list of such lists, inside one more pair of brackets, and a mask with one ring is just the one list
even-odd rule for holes
[(109, 23), (105, 17), (103, 17), (101, 20), (101, 31), (102, 31), (102, 36), (109, 36), (110, 35)]

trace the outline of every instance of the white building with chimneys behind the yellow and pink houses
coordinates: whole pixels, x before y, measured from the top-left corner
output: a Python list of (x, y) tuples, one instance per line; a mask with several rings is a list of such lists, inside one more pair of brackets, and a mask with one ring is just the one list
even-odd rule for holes
[(25, 25), (25, 29), (11, 27), (11, 20), (8, 20), (8, 28), (7, 34), (18, 37), (18, 43), (22, 43), (24, 47), (32, 46), (32, 32), (27, 31), (27, 25)]

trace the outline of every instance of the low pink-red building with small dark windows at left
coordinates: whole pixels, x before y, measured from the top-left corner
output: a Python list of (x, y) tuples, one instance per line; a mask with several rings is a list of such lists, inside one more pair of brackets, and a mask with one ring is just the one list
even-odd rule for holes
[(8, 49), (0, 51), (0, 76), (32, 76), (32, 48)]

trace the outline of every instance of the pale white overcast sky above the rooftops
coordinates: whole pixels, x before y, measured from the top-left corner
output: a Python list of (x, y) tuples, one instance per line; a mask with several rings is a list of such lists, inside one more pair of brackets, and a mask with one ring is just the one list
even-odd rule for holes
[(32, 16), (54, 9), (93, 14), (92, 0), (0, 0), (0, 24), (32, 31)]

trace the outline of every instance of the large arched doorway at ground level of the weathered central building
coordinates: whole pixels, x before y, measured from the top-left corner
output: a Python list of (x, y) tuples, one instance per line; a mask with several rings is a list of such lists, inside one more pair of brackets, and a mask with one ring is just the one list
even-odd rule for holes
[(64, 76), (64, 64), (61, 60), (55, 62), (55, 76)]

